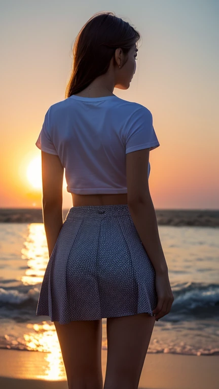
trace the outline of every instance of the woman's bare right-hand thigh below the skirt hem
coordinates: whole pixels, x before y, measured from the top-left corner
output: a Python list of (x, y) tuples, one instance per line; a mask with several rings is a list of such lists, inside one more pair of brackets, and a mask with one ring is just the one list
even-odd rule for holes
[(107, 318), (107, 363), (104, 389), (136, 389), (154, 329), (147, 313)]

